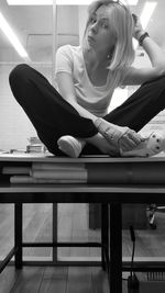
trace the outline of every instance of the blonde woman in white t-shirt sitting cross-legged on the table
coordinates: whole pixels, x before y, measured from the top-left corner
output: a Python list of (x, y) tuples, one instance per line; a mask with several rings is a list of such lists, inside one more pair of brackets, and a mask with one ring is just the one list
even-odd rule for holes
[[(19, 65), (10, 74), (12, 92), (55, 155), (155, 155), (165, 148), (164, 137), (144, 138), (139, 131), (165, 108), (165, 55), (119, 1), (95, 1), (88, 12), (82, 44), (56, 53), (56, 89), (30, 66)], [(152, 68), (132, 67), (133, 36)], [(142, 86), (108, 113), (114, 89), (129, 84)]]

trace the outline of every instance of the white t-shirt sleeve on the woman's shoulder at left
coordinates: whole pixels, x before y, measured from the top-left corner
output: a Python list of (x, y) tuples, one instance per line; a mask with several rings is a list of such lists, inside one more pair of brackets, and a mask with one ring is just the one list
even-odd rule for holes
[(55, 76), (57, 72), (73, 74), (72, 50), (68, 45), (59, 47), (56, 52)]

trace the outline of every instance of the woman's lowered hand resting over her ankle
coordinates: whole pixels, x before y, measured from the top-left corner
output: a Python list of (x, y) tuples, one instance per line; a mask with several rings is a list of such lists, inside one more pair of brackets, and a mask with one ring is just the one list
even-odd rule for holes
[(117, 151), (128, 151), (134, 149), (144, 138), (127, 126), (118, 126), (103, 119), (97, 119), (95, 122), (99, 133), (117, 148)]

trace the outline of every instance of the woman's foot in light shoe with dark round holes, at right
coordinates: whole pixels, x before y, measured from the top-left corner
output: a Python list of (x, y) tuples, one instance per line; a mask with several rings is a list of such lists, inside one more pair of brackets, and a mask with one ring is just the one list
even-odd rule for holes
[(120, 151), (122, 157), (151, 157), (165, 150), (165, 138), (161, 134), (152, 133), (144, 142), (141, 142), (134, 149)]

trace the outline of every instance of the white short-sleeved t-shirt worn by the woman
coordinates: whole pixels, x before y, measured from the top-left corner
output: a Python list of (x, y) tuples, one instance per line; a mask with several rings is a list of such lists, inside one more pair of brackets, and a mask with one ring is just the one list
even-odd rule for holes
[[(109, 70), (105, 86), (96, 87), (91, 83), (84, 60), (80, 46), (64, 45), (56, 53), (57, 72), (68, 72), (73, 76), (73, 82), (76, 91), (77, 102), (96, 116), (108, 114), (108, 108), (117, 87), (121, 86), (125, 76), (125, 70)], [(56, 83), (56, 89), (57, 83)]]

